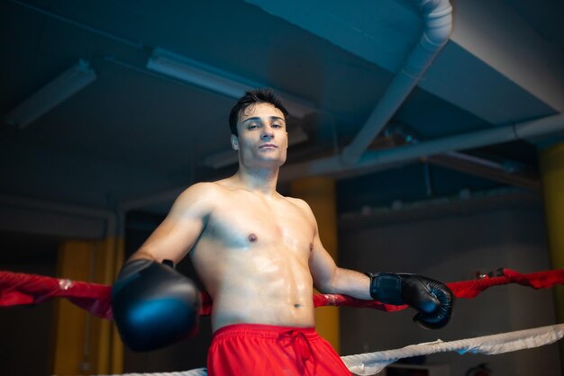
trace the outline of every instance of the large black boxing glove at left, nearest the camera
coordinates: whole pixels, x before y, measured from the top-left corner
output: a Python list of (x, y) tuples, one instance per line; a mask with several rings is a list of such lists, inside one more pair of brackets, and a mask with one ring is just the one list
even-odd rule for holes
[(133, 260), (112, 286), (115, 324), (134, 351), (156, 350), (193, 336), (201, 304), (194, 282), (172, 263)]

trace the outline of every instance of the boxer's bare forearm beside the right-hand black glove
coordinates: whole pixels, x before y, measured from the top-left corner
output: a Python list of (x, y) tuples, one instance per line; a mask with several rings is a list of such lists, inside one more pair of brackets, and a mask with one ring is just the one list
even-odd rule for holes
[(343, 294), (353, 298), (370, 300), (370, 279), (366, 274), (350, 269), (336, 268), (330, 283), (319, 286), (323, 293)]

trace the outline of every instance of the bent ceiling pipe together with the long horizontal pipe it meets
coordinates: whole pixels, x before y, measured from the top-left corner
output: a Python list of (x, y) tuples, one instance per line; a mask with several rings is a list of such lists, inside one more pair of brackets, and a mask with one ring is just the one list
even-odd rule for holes
[(534, 121), (366, 153), (370, 143), (386, 127), (387, 122), (449, 40), (452, 30), (452, 7), (449, 1), (414, 0), (414, 3), (419, 6), (423, 16), (424, 28), (421, 40), (409, 53), (404, 67), (394, 77), (357, 136), (350, 145), (343, 148), (341, 155), (284, 167), (280, 170), (280, 181), (287, 182), (314, 175), (358, 175), (445, 152), (480, 148), (517, 139), (541, 139), (564, 132), (564, 115), (556, 114)]

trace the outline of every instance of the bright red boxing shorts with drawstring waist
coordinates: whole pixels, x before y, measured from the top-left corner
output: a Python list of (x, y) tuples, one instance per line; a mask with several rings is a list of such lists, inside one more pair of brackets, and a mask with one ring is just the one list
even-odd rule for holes
[(214, 333), (208, 376), (350, 376), (313, 327), (235, 324)]

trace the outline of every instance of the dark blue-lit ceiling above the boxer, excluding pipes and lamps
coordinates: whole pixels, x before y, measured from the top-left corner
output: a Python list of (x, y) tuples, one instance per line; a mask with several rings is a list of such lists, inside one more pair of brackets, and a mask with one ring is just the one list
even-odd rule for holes
[[(387, 147), (398, 138), (443, 139), (564, 112), (561, 1), (451, 3), (450, 41), (390, 121), (381, 138)], [(234, 98), (148, 69), (155, 49), (186, 58), (202, 76), (283, 94), (294, 109), (294, 134), (302, 135), (291, 165), (354, 138), (423, 27), (410, 0), (1, 0), (0, 22), (3, 119), (80, 59), (96, 72), (92, 84), (28, 126), (0, 124), (3, 205), (17, 197), (103, 210), (160, 208), (154, 204), (168, 205), (182, 187), (234, 172), (206, 164), (229, 157)], [(536, 146), (557, 141), (551, 135), (464, 153), (523, 166), (534, 180)], [(432, 168), (455, 191), (512, 185), (511, 176), (467, 165)], [(341, 186), (354, 194), (353, 186), (378, 174), (396, 179), (379, 196), (374, 186), (367, 199), (386, 201), (388, 185), (419, 186), (428, 166), (395, 168), (356, 173)]]

